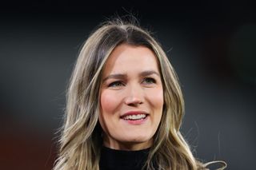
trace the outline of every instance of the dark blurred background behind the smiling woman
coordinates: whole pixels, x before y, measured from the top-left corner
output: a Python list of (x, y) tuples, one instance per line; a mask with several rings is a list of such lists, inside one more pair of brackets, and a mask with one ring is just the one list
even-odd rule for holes
[(0, 5), (0, 169), (50, 170), (78, 49), (134, 14), (166, 50), (186, 100), (182, 133), (203, 161), (253, 169), (256, 10), (249, 1), (9, 1)]

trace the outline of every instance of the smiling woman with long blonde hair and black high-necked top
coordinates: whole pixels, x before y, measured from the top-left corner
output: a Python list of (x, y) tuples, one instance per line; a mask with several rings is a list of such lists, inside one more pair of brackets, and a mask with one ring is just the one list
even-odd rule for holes
[(134, 22), (105, 22), (74, 66), (54, 170), (205, 169), (179, 131), (183, 114), (158, 42)]

